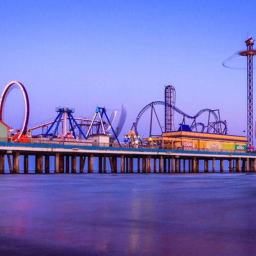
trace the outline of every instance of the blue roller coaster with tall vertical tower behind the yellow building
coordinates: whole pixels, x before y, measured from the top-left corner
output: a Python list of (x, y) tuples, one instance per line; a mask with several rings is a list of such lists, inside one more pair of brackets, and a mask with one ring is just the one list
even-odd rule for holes
[[(174, 128), (174, 112), (179, 113), (183, 118), (182, 118), (182, 123), (181, 124), (187, 124), (187, 119), (193, 120), (190, 123), (190, 130), (196, 130), (198, 132), (198, 126), (201, 126), (201, 133), (214, 133), (214, 134), (227, 134), (227, 124), (226, 121), (220, 120), (220, 111), (219, 110), (210, 110), (210, 109), (203, 109), (200, 110), (196, 115), (191, 116), (180, 109), (178, 109), (175, 106), (175, 99), (176, 99), (176, 92), (175, 88), (172, 86), (167, 86), (165, 88), (165, 101), (153, 101), (146, 106), (139, 112), (138, 116), (136, 117), (135, 122), (133, 123), (132, 130), (138, 135), (138, 123), (141, 118), (141, 116), (146, 112), (146, 110), (151, 108), (151, 121), (150, 121), (150, 133), (149, 137), (154, 136), (152, 134), (152, 126), (153, 126), (153, 114), (155, 114), (157, 118), (157, 123), (160, 127), (161, 132), (173, 132), (175, 131)], [(165, 130), (163, 131), (162, 125), (160, 123), (159, 117), (157, 115), (155, 106), (156, 105), (164, 105), (165, 106)], [(202, 123), (202, 122), (197, 122), (197, 118), (203, 114), (203, 113), (208, 113), (208, 121), (207, 124)], [(211, 118), (213, 118), (213, 121), (210, 121)], [(159, 135), (157, 135), (159, 136)]]

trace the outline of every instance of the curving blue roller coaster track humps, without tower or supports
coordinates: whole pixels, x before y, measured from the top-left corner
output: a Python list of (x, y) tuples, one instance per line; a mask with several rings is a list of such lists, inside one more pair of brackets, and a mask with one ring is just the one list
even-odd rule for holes
[[(189, 118), (189, 119), (196, 119), (197, 117), (199, 117), (202, 113), (204, 112), (209, 112), (210, 114), (212, 114), (215, 118), (215, 124), (216, 124), (216, 127), (217, 127), (217, 131), (219, 131), (219, 128), (220, 128), (220, 122), (223, 123), (225, 125), (225, 132), (226, 132), (226, 123), (223, 122), (223, 121), (220, 121), (218, 116), (216, 115), (216, 113), (213, 111), (213, 110), (210, 110), (210, 109), (203, 109), (203, 110), (200, 110), (195, 116), (189, 116), (187, 115), (186, 113), (184, 113), (183, 111), (181, 111), (180, 109), (176, 108), (176, 106), (173, 106), (167, 102), (164, 102), (164, 101), (154, 101), (154, 102), (151, 102), (150, 104), (147, 104), (141, 111), (140, 113), (138, 114), (135, 122), (134, 122), (134, 130), (135, 130), (135, 133), (138, 135), (138, 131), (137, 131), (137, 125), (138, 125), (138, 122), (140, 120), (140, 117), (143, 115), (143, 113), (151, 108), (153, 105), (166, 105), (172, 109), (174, 109), (176, 112), (178, 112), (179, 114), (181, 114), (183, 117), (186, 117), (186, 118)], [(194, 125), (192, 125), (190, 128), (191, 130), (193, 130), (197, 125), (202, 125), (203, 128), (202, 128), (202, 132), (204, 131), (205, 129), (205, 125), (203, 123), (196, 123)], [(211, 130), (212, 128), (210, 128)], [(209, 132), (209, 131), (207, 131)], [(220, 132), (219, 132), (220, 133)], [(220, 133), (221, 134), (221, 133)]]

